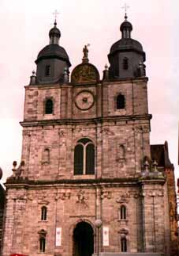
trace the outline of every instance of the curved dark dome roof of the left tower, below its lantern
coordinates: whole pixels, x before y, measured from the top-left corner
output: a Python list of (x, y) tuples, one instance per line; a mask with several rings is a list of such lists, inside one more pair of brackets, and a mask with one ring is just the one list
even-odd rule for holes
[(69, 56), (65, 52), (65, 49), (58, 44), (48, 44), (46, 47), (44, 47), (39, 52), (37, 59), (35, 60), (35, 63), (36, 64), (39, 63), (41, 59), (54, 59), (54, 58), (65, 60), (69, 64), (69, 67), (71, 66), (71, 63), (69, 62)]

